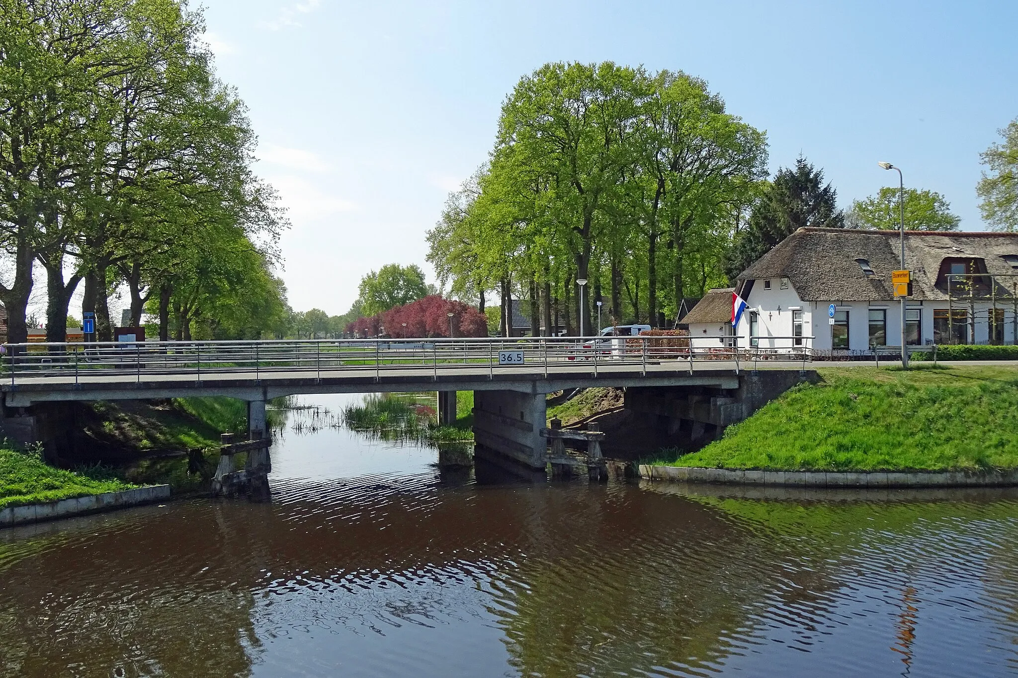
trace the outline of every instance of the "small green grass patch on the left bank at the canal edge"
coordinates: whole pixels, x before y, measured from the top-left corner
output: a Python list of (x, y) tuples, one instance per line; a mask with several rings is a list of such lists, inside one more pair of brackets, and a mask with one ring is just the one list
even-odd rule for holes
[[(102, 470), (93, 474), (74, 473), (48, 467), (36, 455), (0, 448), (0, 508), (84, 497), (104, 492), (129, 490), (136, 485), (106, 477)], [(90, 477), (97, 475), (100, 477)]]

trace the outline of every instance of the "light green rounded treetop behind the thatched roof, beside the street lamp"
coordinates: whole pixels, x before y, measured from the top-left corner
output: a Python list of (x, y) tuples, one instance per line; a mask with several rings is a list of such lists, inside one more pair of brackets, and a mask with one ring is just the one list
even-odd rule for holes
[[(864, 200), (855, 200), (845, 214), (846, 225), (854, 229), (901, 228), (898, 193), (898, 188), (885, 186), (876, 195)], [(958, 230), (961, 218), (951, 213), (951, 203), (937, 191), (906, 188), (903, 191), (903, 198), (907, 231)]]

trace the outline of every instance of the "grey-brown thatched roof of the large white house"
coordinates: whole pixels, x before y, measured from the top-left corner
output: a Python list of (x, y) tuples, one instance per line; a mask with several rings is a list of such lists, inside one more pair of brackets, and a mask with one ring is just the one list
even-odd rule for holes
[[(938, 285), (945, 259), (982, 259), (987, 273), (1018, 273), (1005, 256), (1018, 256), (1018, 234), (905, 232), (912, 299), (948, 298), (943, 282)], [(894, 299), (891, 271), (898, 269), (900, 257), (898, 231), (802, 228), (744, 270), (738, 283), (788, 278), (803, 301), (889, 301)], [(872, 275), (858, 259), (868, 263)]]

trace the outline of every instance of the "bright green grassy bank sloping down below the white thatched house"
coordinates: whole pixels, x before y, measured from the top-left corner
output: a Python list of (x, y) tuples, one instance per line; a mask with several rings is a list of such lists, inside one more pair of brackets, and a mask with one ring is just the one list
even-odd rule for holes
[[(916, 366), (919, 367), (919, 366)], [(975, 471), (1018, 467), (1018, 367), (817, 370), (728, 427), (656, 464), (727, 469)]]

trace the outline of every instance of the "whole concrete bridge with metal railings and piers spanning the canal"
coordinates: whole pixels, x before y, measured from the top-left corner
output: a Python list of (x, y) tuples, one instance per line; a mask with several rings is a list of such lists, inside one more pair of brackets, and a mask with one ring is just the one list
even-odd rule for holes
[[(792, 337), (789, 337), (791, 340)], [(790, 344), (791, 346), (791, 344)], [(693, 349), (684, 337), (337, 340), (7, 345), (0, 427), (39, 438), (59, 404), (226, 395), (266, 430), (280, 395), (438, 391), (441, 422), (459, 390), (474, 392), (475, 441), (544, 469), (548, 393), (627, 389), (627, 407), (694, 428), (723, 429), (799, 381), (809, 351)], [(767, 369), (756, 369), (756, 368)], [(660, 393), (659, 403), (654, 394)], [(667, 405), (662, 405), (667, 404)]]

